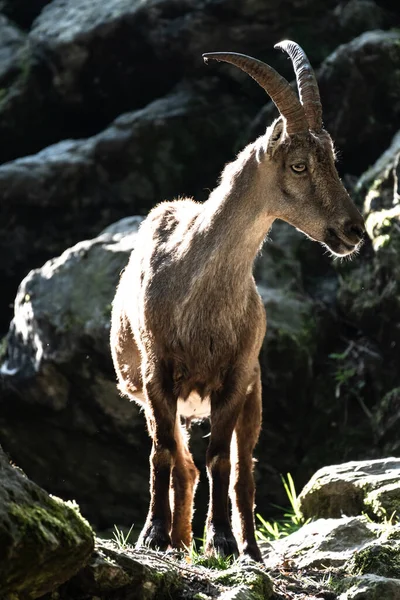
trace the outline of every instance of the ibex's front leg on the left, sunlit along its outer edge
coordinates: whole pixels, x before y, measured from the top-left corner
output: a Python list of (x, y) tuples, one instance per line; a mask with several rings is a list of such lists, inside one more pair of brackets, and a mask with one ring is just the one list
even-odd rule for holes
[(146, 418), (153, 440), (150, 455), (150, 508), (138, 546), (166, 550), (171, 544), (169, 488), (176, 456), (174, 428), (177, 400), (162, 365), (151, 365), (143, 373), (143, 390), (148, 406)]

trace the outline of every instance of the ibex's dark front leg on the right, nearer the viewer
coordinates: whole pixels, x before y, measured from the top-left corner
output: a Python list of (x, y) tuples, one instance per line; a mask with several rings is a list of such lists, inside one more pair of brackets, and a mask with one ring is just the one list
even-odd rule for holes
[(240, 378), (231, 374), (223, 388), (211, 395), (211, 437), (207, 450), (210, 504), (207, 516), (206, 554), (238, 556), (229, 518), (230, 445), (245, 400)]

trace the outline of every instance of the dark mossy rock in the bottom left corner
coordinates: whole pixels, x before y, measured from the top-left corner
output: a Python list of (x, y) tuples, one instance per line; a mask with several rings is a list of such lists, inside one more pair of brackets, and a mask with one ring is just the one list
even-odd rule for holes
[(38, 598), (84, 566), (93, 533), (76, 504), (49, 496), (12, 467), (1, 449), (0, 479), (1, 595)]

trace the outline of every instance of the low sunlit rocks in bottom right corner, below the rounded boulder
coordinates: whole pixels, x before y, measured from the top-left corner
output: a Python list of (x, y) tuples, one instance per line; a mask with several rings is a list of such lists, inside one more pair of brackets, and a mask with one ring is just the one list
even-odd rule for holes
[(399, 524), (341, 517), (318, 519), (287, 537), (262, 542), (261, 549), (274, 583), (286, 587), (285, 574), (290, 572), (292, 592), (332, 600), (396, 600), (399, 540)]

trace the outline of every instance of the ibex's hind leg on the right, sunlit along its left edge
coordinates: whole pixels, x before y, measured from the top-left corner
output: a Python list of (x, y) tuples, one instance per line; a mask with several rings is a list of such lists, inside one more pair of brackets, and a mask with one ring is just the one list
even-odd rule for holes
[(261, 380), (256, 381), (246, 397), (232, 439), (232, 523), (236, 539), (244, 555), (262, 561), (255, 538), (253, 450), (261, 428)]

